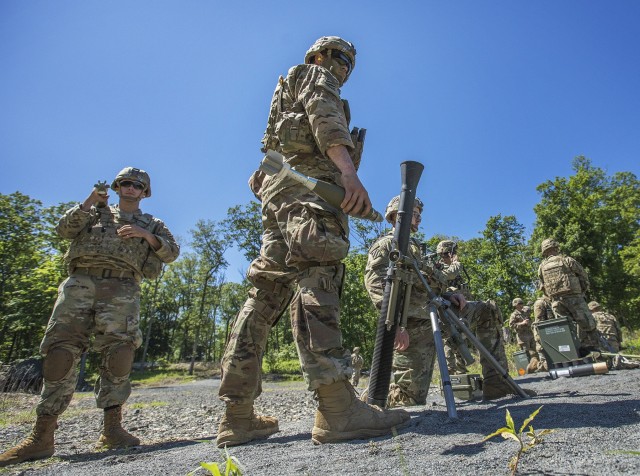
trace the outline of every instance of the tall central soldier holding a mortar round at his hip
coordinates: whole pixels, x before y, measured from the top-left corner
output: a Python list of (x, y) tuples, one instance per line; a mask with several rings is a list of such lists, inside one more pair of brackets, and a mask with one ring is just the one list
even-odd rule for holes
[[(253, 284), (233, 323), (222, 359), (220, 398), (226, 411), (219, 447), (278, 431), (273, 417), (254, 413), (261, 362), (271, 327), (291, 300), (291, 320), (302, 372), (318, 399), (314, 443), (391, 433), (410, 418), (361, 402), (349, 378), (351, 353), (342, 345), (339, 294), (349, 249), (347, 214), (366, 215), (371, 202), (357, 175), (362, 144), (349, 131), (340, 87), (356, 50), (338, 37), (318, 39), (304, 64), (280, 77), (271, 101), (263, 152), (274, 149), (307, 175), (345, 189), (341, 209), (291, 179), (256, 172), (251, 189), (262, 201), (262, 247), (247, 273)], [(354, 137), (355, 136), (355, 137)], [(293, 296), (293, 297), (292, 297)]]

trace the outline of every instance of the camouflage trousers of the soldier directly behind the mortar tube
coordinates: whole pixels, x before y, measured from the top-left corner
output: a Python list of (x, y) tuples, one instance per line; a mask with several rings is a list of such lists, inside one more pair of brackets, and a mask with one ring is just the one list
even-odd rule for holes
[(431, 321), (409, 319), (409, 348), (393, 352), (393, 378), (388, 405), (424, 405), (427, 402), (436, 348)]

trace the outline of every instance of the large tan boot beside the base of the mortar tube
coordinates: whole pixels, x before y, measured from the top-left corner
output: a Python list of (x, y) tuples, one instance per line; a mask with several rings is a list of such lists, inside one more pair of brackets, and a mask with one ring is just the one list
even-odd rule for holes
[(315, 444), (374, 438), (409, 423), (404, 410), (380, 410), (360, 401), (347, 380), (317, 390), (318, 410), (311, 433)]

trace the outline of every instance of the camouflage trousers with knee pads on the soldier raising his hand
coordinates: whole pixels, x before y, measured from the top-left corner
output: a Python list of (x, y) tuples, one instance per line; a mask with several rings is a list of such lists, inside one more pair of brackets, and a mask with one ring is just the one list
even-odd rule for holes
[(102, 353), (97, 406), (122, 405), (131, 394), (133, 353), (142, 343), (139, 316), (140, 284), (135, 279), (72, 274), (64, 280), (40, 344), (44, 386), (36, 413), (60, 415), (69, 406), (78, 362), (92, 336), (91, 348)]

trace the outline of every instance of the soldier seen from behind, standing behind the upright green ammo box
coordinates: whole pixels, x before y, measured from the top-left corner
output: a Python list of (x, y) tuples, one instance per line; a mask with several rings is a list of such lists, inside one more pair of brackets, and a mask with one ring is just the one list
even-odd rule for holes
[(560, 245), (553, 238), (543, 240), (541, 250), (538, 279), (542, 292), (551, 299), (553, 313), (575, 324), (583, 355), (597, 350), (596, 321), (584, 297), (589, 289), (587, 273), (575, 259), (560, 254)]

